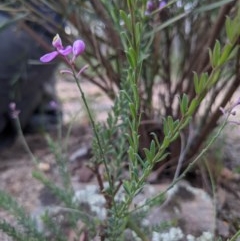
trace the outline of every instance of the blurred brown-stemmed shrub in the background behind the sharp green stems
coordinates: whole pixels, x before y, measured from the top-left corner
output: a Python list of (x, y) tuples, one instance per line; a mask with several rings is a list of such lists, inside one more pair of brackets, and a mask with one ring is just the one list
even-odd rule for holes
[[(127, 61), (120, 38), (126, 26), (119, 14), (120, 9), (127, 9), (126, 2), (12, 0), (2, 1), (0, 10), (7, 11), (46, 51), (52, 47), (34, 30), (42, 28), (52, 36), (58, 33), (64, 44), (83, 39), (87, 46), (83, 59), (90, 66), (83, 77), (114, 100), (126, 77)], [(180, 96), (185, 93), (189, 102), (194, 98), (194, 72), (211, 72), (209, 49), (217, 40), (226, 43), (226, 16), (234, 17), (237, 12), (237, 1), (233, 0), (165, 1), (167, 5), (163, 8), (156, 7), (159, 1), (152, 3), (155, 8), (145, 15), (142, 12), (147, 11), (146, 0), (139, 1), (136, 9), (136, 16), (144, 23), (141, 53), (144, 62), (139, 81), (140, 148), (149, 146), (152, 132), (161, 141), (163, 118), (169, 115), (174, 120), (181, 118)], [(218, 83), (206, 93), (190, 127), (170, 146), (170, 160), (160, 165), (174, 169), (181, 148), (185, 150), (187, 164), (217, 126), (222, 115), (219, 108), (226, 106), (240, 84), (238, 42), (233, 43), (230, 62), (222, 66)]]

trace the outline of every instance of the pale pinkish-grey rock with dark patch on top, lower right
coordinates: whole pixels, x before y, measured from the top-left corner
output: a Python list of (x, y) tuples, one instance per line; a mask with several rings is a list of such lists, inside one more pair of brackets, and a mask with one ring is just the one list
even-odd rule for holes
[(150, 225), (174, 222), (184, 234), (195, 237), (203, 232), (214, 233), (214, 207), (210, 196), (202, 189), (182, 181), (168, 192), (164, 205), (150, 210)]

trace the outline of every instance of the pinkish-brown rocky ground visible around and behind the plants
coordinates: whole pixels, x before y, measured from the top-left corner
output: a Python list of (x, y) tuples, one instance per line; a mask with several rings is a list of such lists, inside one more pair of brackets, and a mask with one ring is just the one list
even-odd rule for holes
[[(111, 101), (87, 82), (83, 84), (83, 88), (88, 93), (88, 100), (95, 117), (104, 121), (111, 106)], [(57, 84), (57, 90), (64, 111), (64, 125), (61, 131), (63, 139), (67, 137), (69, 126), (72, 126), (71, 134), (67, 138), (67, 160), (72, 172), (72, 181), (76, 190), (86, 189), (88, 185), (95, 185), (95, 179), (83, 164), (89, 161), (88, 150), (91, 140), (89, 121), (81, 105), (80, 95), (74, 82), (61, 80)], [(229, 127), (227, 132), (230, 131), (232, 131), (232, 127)], [(240, 176), (232, 172), (240, 165), (238, 159), (240, 145), (237, 144), (240, 136), (236, 134), (239, 133), (239, 128), (235, 129), (233, 133), (235, 135), (230, 135), (231, 138), (226, 142), (227, 148), (224, 154), (226, 155), (225, 160), (228, 168), (223, 168), (219, 175), (215, 195), (212, 195), (211, 188), (210, 191), (202, 190), (192, 187), (184, 181), (169, 193), (169, 199), (164, 209), (155, 208), (154, 211), (150, 212), (147, 222), (156, 224), (154, 222), (177, 220), (183, 234), (176, 230), (172, 231), (179, 238), (172, 240), (195, 240), (187, 235), (199, 237), (205, 235), (205, 232), (214, 233), (215, 231), (223, 237), (223, 240), (226, 240), (239, 228)], [(53, 131), (51, 136), (57, 140), (59, 131)], [(53, 205), (55, 200), (45, 192), (43, 185), (32, 177), (32, 171), (40, 169), (46, 175), (52, 175), (56, 180), (58, 177), (54, 172), (54, 155), (47, 145), (46, 138), (40, 134), (34, 134), (28, 135), (26, 140), (40, 164), (37, 167), (34, 165), (21, 140), (17, 140), (11, 148), (0, 153), (0, 190), (7, 191), (17, 199), (27, 212), (33, 214), (41, 208)], [(215, 151), (218, 150), (215, 149)], [(79, 159), (79, 157), (82, 158)], [(208, 158), (214, 157), (209, 155)], [(214, 160), (212, 162), (214, 163)], [(167, 183), (152, 185), (148, 190), (152, 190), (150, 193), (152, 195), (158, 193), (159, 190), (164, 190), (167, 185)], [(144, 199), (149, 193), (143, 192), (141, 195), (139, 198)], [(100, 208), (103, 209), (103, 207)], [(0, 218), (9, 220), (12, 217), (4, 210), (0, 210)], [(170, 240), (171, 235), (160, 237), (156, 234), (155, 236), (155, 240)], [(169, 239), (166, 239), (166, 237)], [(7, 241), (10, 239), (2, 234), (0, 240)], [(213, 238), (201, 240), (213, 240)], [(71, 238), (69, 238), (69, 241), (71, 241)]]

